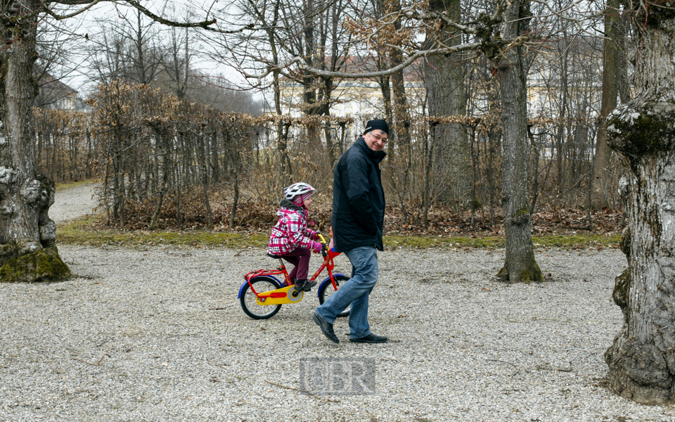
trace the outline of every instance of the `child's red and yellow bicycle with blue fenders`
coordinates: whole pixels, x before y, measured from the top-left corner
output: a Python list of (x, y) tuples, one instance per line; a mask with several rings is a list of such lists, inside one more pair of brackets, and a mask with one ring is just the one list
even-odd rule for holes
[[(323, 264), (309, 281), (316, 280), (316, 277), (324, 269), (328, 271), (328, 276), (319, 283), (319, 303), (323, 304), (330, 295), (340, 288), (340, 283), (349, 280), (349, 277), (342, 273), (333, 274), (333, 268), (335, 267), (333, 258), (340, 255), (340, 252), (335, 252), (335, 248), (328, 248), (326, 240), (320, 234), (319, 238), (323, 245), (323, 248), (321, 248)], [(241, 301), (241, 309), (253, 319), (271, 318), (279, 312), (281, 305), (297, 303), (304, 298), (304, 291), (297, 290), (293, 281), (288, 277), (288, 271), (286, 271), (281, 257), (270, 253), (267, 256), (279, 260), (279, 267), (250, 271), (244, 276), (246, 281), (239, 288), (238, 298)], [(283, 283), (279, 280), (282, 275)], [(349, 307), (338, 314), (340, 317), (347, 315), (349, 315)]]

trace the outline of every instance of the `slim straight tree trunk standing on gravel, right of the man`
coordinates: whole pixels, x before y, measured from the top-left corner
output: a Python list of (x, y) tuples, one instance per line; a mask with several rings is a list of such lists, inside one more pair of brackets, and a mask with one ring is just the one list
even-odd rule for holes
[[(504, 33), (510, 37), (527, 30), (529, 0), (515, 0), (509, 6)], [(501, 55), (497, 66), (501, 89), (503, 133), (504, 235), (506, 261), (498, 276), (511, 283), (543, 281), (532, 248), (532, 221), (529, 215), (527, 162), (532, 148), (527, 139), (527, 89), (525, 48), (513, 47)]]

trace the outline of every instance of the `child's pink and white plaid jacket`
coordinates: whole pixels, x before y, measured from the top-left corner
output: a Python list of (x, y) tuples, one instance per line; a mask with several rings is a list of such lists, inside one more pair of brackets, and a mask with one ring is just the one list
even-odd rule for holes
[(316, 236), (316, 231), (307, 229), (309, 212), (290, 200), (282, 200), (280, 205), (281, 209), (276, 212), (279, 220), (272, 227), (267, 252), (285, 255), (297, 248), (311, 248), (311, 239)]

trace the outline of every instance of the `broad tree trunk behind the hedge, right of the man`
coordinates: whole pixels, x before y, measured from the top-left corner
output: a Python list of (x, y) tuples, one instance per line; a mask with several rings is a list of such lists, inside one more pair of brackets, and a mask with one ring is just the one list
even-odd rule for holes
[[(459, 18), (459, 0), (430, 0), (429, 10), (448, 13)], [(428, 34), (438, 37), (438, 34)], [(449, 33), (445, 45), (461, 43), (457, 32)], [(446, 117), (466, 114), (466, 99), (462, 72), (462, 58), (458, 54), (435, 55), (427, 58), (424, 70), (429, 115)], [(436, 127), (438, 162), (437, 191), (446, 203), (466, 205), (471, 191), (471, 169), (468, 136), (461, 124), (442, 123)]]

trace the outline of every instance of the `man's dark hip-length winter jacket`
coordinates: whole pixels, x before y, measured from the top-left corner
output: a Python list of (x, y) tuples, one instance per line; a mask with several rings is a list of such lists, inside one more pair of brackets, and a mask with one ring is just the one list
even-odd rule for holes
[(345, 252), (359, 246), (383, 250), (385, 191), (380, 161), (384, 151), (368, 148), (359, 136), (335, 165), (333, 174), (333, 225), (335, 250)]

